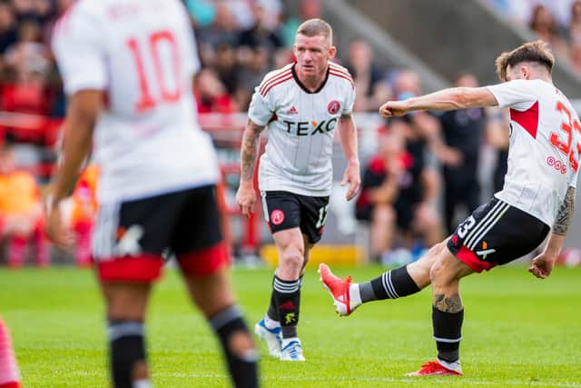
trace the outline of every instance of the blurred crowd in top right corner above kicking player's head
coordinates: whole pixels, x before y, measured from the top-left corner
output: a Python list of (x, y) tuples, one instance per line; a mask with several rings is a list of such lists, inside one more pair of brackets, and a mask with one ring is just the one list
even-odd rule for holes
[(581, 0), (487, 0), (499, 15), (527, 26), (559, 60), (581, 74)]

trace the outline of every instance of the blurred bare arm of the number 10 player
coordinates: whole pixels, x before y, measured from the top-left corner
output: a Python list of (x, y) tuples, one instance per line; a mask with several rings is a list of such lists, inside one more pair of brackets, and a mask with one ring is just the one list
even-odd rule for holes
[(69, 100), (61, 163), (54, 175), (51, 203), (47, 206), (46, 233), (54, 244), (71, 246), (74, 238), (64, 231), (59, 212), (60, 202), (70, 193), (84, 159), (93, 144), (94, 124), (103, 104), (103, 92), (85, 90)]

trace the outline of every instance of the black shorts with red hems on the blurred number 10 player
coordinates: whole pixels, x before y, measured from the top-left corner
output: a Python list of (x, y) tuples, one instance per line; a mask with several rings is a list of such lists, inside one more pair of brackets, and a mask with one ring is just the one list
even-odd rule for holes
[(187, 274), (212, 274), (227, 261), (215, 186), (102, 204), (93, 254), (102, 280), (152, 281), (172, 253)]

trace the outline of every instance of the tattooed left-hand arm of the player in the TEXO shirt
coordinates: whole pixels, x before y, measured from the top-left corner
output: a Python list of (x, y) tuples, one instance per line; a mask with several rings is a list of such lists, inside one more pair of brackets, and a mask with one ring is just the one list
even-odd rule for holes
[(264, 125), (254, 124), (248, 119), (244, 134), (242, 134), (241, 161), (240, 161), (240, 187), (236, 193), (236, 204), (242, 214), (250, 217), (256, 204), (256, 193), (252, 185), (256, 156), (258, 154), (258, 141)]

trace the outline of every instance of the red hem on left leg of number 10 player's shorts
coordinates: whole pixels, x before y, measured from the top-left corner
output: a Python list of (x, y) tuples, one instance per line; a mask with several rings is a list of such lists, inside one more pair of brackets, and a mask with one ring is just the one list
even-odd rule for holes
[(103, 282), (153, 282), (162, 274), (162, 257), (154, 254), (113, 257), (97, 263)]

